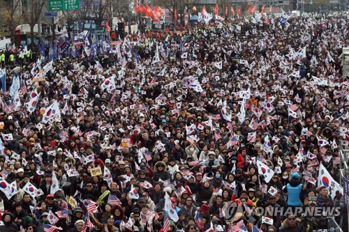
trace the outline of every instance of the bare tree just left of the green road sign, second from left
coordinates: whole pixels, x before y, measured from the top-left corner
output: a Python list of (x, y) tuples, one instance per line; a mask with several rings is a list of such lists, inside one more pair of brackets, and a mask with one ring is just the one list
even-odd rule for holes
[(34, 43), (34, 26), (38, 22), (45, 2), (42, 0), (22, 1), (22, 12), (25, 22), (30, 26), (31, 43)]

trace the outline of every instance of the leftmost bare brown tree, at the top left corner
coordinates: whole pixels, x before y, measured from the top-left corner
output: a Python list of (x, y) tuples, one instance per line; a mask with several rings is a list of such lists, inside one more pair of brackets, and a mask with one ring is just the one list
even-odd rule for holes
[(15, 39), (15, 29), (22, 20), (23, 15), (21, 11), (22, 0), (0, 1), (2, 17), (1, 21), (5, 29), (10, 33), (11, 40)]

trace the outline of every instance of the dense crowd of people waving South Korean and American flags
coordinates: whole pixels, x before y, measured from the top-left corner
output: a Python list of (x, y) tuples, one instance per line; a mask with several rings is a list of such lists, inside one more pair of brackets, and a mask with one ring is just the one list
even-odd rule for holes
[(256, 15), (8, 68), (0, 231), (327, 229), (267, 210), (314, 206), (341, 225), (347, 22)]

